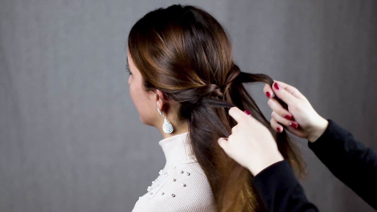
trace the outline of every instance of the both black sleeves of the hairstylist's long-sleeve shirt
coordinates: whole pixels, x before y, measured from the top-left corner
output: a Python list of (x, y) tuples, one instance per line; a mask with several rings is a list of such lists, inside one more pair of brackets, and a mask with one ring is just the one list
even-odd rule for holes
[[(377, 153), (331, 119), (308, 147), (343, 183), (377, 210)], [(253, 179), (269, 211), (318, 211), (310, 203), (286, 160), (268, 166)]]

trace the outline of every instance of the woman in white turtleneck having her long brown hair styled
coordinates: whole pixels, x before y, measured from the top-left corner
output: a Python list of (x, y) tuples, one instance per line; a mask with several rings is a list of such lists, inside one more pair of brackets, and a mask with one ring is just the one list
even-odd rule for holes
[(172, 5), (144, 15), (127, 43), (129, 86), (144, 124), (161, 131), (166, 164), (133, 211), (265, 211), (245, 167), (217, 138), (236, 122), (228, 109), (247, 109), (276, 138), (298, 176), (301, 155), (285, 132), (275, 133), (242, 83), (273, 80), (241, 72), (228, 35), (204, 10)]

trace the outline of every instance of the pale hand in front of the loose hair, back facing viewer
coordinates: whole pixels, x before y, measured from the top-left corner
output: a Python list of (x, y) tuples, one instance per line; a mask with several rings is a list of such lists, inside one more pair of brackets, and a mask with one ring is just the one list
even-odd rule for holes
[(284, 160), (273, 135), (262, 123), (237, 107), (230, 108), (229, 115), (238, 124), (228, 138), (219, 138), (218, 143), (230, 158), (254, 176), (271, 164)]

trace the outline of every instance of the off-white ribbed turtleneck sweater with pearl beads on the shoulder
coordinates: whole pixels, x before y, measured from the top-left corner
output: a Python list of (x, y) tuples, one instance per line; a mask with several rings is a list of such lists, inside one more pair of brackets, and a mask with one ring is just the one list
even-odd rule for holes
[(132, 212), (216, 211), (210, 184), (188, 143), (189, 132), (158, 142), (166, 164)]

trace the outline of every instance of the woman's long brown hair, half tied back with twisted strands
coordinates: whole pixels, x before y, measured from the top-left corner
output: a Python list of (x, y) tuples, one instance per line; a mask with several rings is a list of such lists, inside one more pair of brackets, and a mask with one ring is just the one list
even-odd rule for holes
[(169, 101), (179, 103), (179, 119), (187, 120), (190, 143), (219, 211), (266, 210), (251, 173), (217, 143), (237, 124), (228, 114), (233, 106), (247, 109), (270, 129), (283, 157), (298, 177), (303, 176), (305, 166), (297, 147), (285, 131), (271, 129), (242, 84), (272, 86), (273, 80), (265, 74), (242, 72), (234, 64), (227, 32), (208, 12), (193, 5), (155, 9), (135, 23), (127, 45), (145, 90), (159, 89)]

